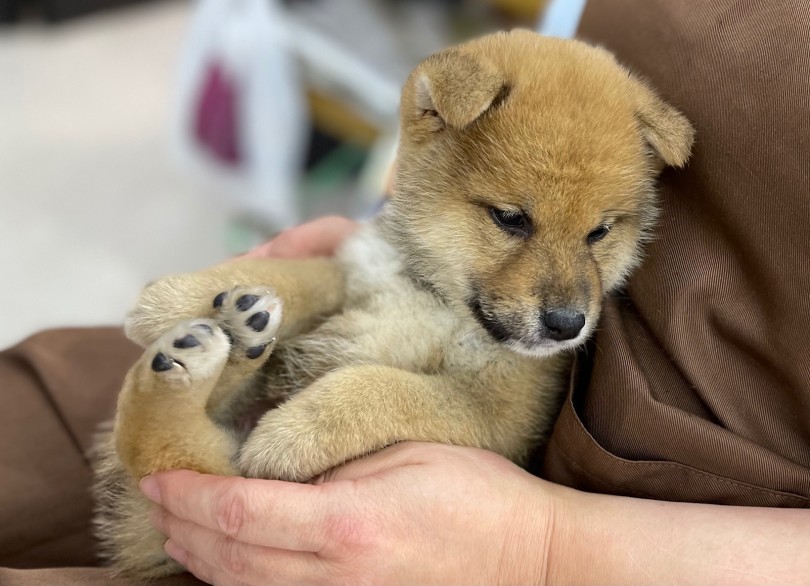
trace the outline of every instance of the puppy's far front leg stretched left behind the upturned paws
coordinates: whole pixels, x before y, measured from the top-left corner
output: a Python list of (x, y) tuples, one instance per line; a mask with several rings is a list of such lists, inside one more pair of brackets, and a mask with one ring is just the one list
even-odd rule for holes
[(345, 277), (332, 259), (243, 259), (196, 273), (164, 277), (141, 293), (127, 316), (127, 336), (148, 346), (178, 322), (215, 318), (213, 300), (238, 285), (265, 287), (284, 302), (278, 337), (283, 340), (312, 328), (337, 312), (345, 298)]

